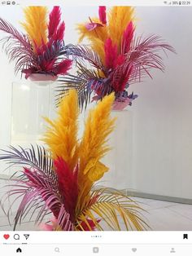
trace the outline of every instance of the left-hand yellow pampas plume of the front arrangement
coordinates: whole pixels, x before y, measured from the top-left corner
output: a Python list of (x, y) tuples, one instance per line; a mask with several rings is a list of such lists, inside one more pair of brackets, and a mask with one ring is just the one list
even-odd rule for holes
[(58, 117), (55, 121), (46, 118), (49, 124), (43, 141), (49, 146), (53, 159), (62, 157), (71, 170), (78, 162), (78, 97), (76, 90), (69, 90), (60, 102)]

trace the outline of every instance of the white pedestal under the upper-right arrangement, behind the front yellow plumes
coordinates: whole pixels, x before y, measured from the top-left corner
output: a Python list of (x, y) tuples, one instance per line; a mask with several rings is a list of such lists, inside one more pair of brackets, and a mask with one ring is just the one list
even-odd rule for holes
[(133, 154), (133, 113), (130, 110), (112, 111), (117, 117), (116, 128), (111, 133), (108, 144), (111, 151), (103, 157), (103, 163), (109, 167), (100, 185), (116, 189), (132, 188)]

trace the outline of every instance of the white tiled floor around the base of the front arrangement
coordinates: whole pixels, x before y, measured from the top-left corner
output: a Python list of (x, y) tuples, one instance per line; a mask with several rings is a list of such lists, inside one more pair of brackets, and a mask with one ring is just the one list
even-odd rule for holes
[[(0, 180), (0, 197), (5, 192)], [(133, 198), (146, 212), (143, 213), (146, 223), (153, 231), (192, 231), (192, 205), (172, 203), (168, 201), (156, 201), (144, 198)], [(15, 210), (13, 208), (13, 211)], [(25, 222), (17, 227), (17, 230), (36, 230), (33, 222)], [(7, 217), (0, 208), (0, 230), (12, 230)]]

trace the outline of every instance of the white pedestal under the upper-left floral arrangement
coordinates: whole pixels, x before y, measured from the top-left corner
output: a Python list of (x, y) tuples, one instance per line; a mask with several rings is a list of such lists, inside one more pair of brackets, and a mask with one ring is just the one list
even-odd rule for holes
[(43, 117), (55, 117), (53, 81), (13, 82), (11, 144), (41, 143), (46, 130)]

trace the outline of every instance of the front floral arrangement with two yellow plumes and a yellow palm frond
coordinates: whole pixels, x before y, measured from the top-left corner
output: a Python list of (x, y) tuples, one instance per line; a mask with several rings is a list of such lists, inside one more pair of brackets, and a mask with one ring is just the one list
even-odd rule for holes
[[(14, 230), (28, 215), (46, 230), (145, 229), (139, 205), (119, 191), (96, 186), (108, 171), (101, 159), (109, 151), (107, 136), (114, 129), (115, 119), (110, 117), (114, 94), (89, 111), (81, 139), (77, 138), (77, 98), (76, 90), (69, 90), (59, 104), (57, 119), (46, 118), (47, 149), (37, 145), (3, 150), (0, 160), (18, 171), (2, 197), (2, 209), (10, 218), (7, 201), (12, 199), (11, 205), (19, 201)], [(47, 214), (50, 221), (43, 223)]]

